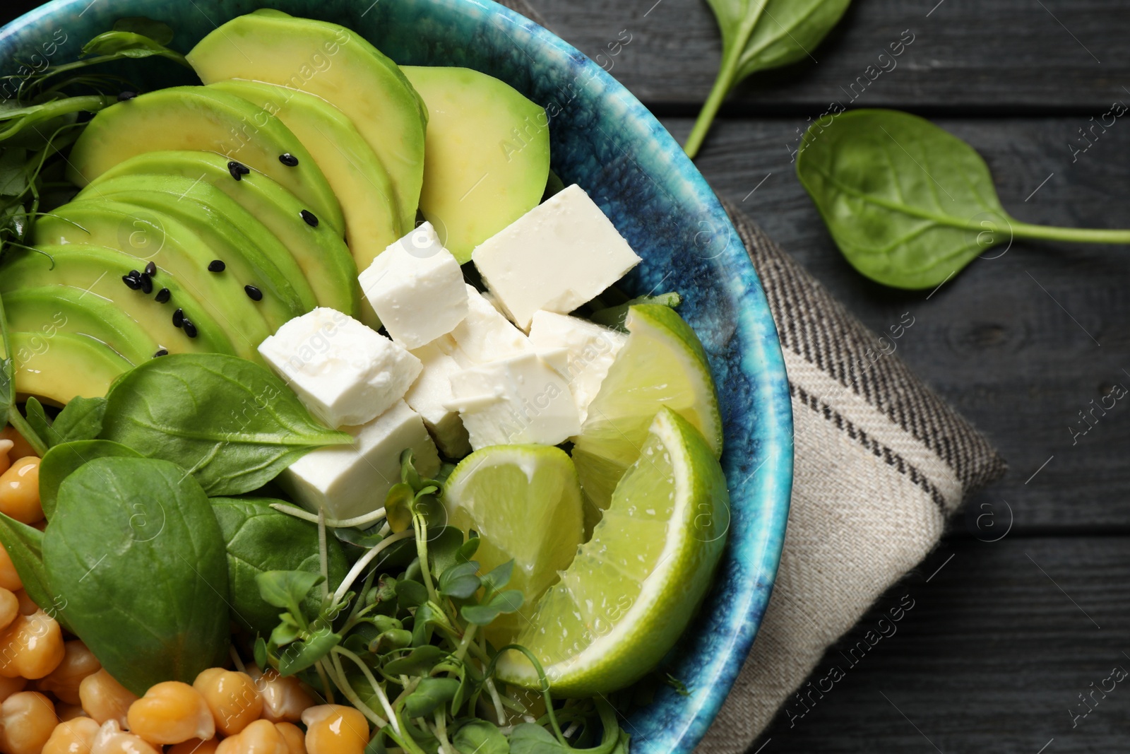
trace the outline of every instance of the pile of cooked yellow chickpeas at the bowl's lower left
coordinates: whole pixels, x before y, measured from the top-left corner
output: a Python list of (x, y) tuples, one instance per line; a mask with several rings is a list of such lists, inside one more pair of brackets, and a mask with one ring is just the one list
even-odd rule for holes
[[(43, 526), (40, 459), (0, 432), (0, 512)], [(305, 726), (299, 728), (298, 722)], [(138, 699), (24, 591), (0, 547), (0, 754), (363, 754), (368, 721), (297, 678), (209, 668)]]

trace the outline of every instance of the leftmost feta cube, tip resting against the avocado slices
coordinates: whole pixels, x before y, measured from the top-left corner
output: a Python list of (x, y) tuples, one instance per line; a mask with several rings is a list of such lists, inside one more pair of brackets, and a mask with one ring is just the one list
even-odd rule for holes
[(280, 327), (259, 353), (331, 427), (373, 421), (403, 398), (423, 369), (380, 332), (325, 307)]

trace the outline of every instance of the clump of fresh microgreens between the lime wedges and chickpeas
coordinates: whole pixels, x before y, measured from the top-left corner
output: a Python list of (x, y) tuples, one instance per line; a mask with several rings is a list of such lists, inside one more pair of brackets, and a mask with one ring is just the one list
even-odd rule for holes
[[(407, 450), (383, 523), (327, 521), (276, 505), (320, 519), (323, 536), (330, 523), (359, 521), (368, 529), (353, 537), (344, 535), (357, 529), (333, 527), (339, 539), (364, 549), (333, 593), (323, 595), (322, 579), (305, 571), (257, 577), (262, 598), (282, 612), (270, 636), (257, 639), (255, 661), (298, 676), (327, 701), (344, 696), (354, 704), (375, 727), (371, 754), (389, 747), (408, 754), (626, 752), (627, 734), (607, 702), (555, 707), (536, 657), (516, 644), (496, 649), (483, 636), (483, 626), (522, 607), (521, 591), (506, 589), (514, 562), (480, 572), (475, 532), (464, 537), (440, 523), (443, 485), (421, 477)], [(308, 608), (314, 596), (316, 614)], [(508, 649), (529, 657), (545, 691), (495, 679), (498, 652)]]

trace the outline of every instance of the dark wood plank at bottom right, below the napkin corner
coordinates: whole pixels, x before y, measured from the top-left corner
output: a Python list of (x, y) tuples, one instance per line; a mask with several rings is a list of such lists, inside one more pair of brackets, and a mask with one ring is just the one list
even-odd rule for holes
[(826, 653), (812, 682), (831, 690), (793, 697), (750, 752), (1125, 751), (1130, 678), (1075, 727), (1068, 710), (1130, 671), (1128, 631), (1128, 538), (945, 541)]

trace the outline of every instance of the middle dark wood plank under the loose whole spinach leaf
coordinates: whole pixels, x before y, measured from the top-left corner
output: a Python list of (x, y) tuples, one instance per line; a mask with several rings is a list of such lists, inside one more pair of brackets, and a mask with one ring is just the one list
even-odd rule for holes
[[(664, 122), (677, 138), (690, 127), (689, 119)], [(1018, 218), (1130, 225), (1127, 124), (1115, 123), (1072, 164), (1067, 139), (1086, 119), (937, 122), (985, 156), (1006, 208)], [(802, 125), (799, 118), (722, 122), (698, 166), (871, 328), (884, 331), (910, 312), (914, 324), (896, 353), (985, 431), (1011, 465), (1006, 480), (976, 497), (974, 508), (1006, 510), (1007, 501), (1022, 527), (1130, 527), (1130, 400), (1106, 416), (1096, 411), (1095, 426), (1077, 444), (1069, 431), (1087, 426), (1078, 411), (1114, 383), (1130, 389), (1123, 371), (1130, 370), (1127, 250), (1016, 242), (929, 298), (872, 284), (844, 261), (797, 180), (790, 151)]]

